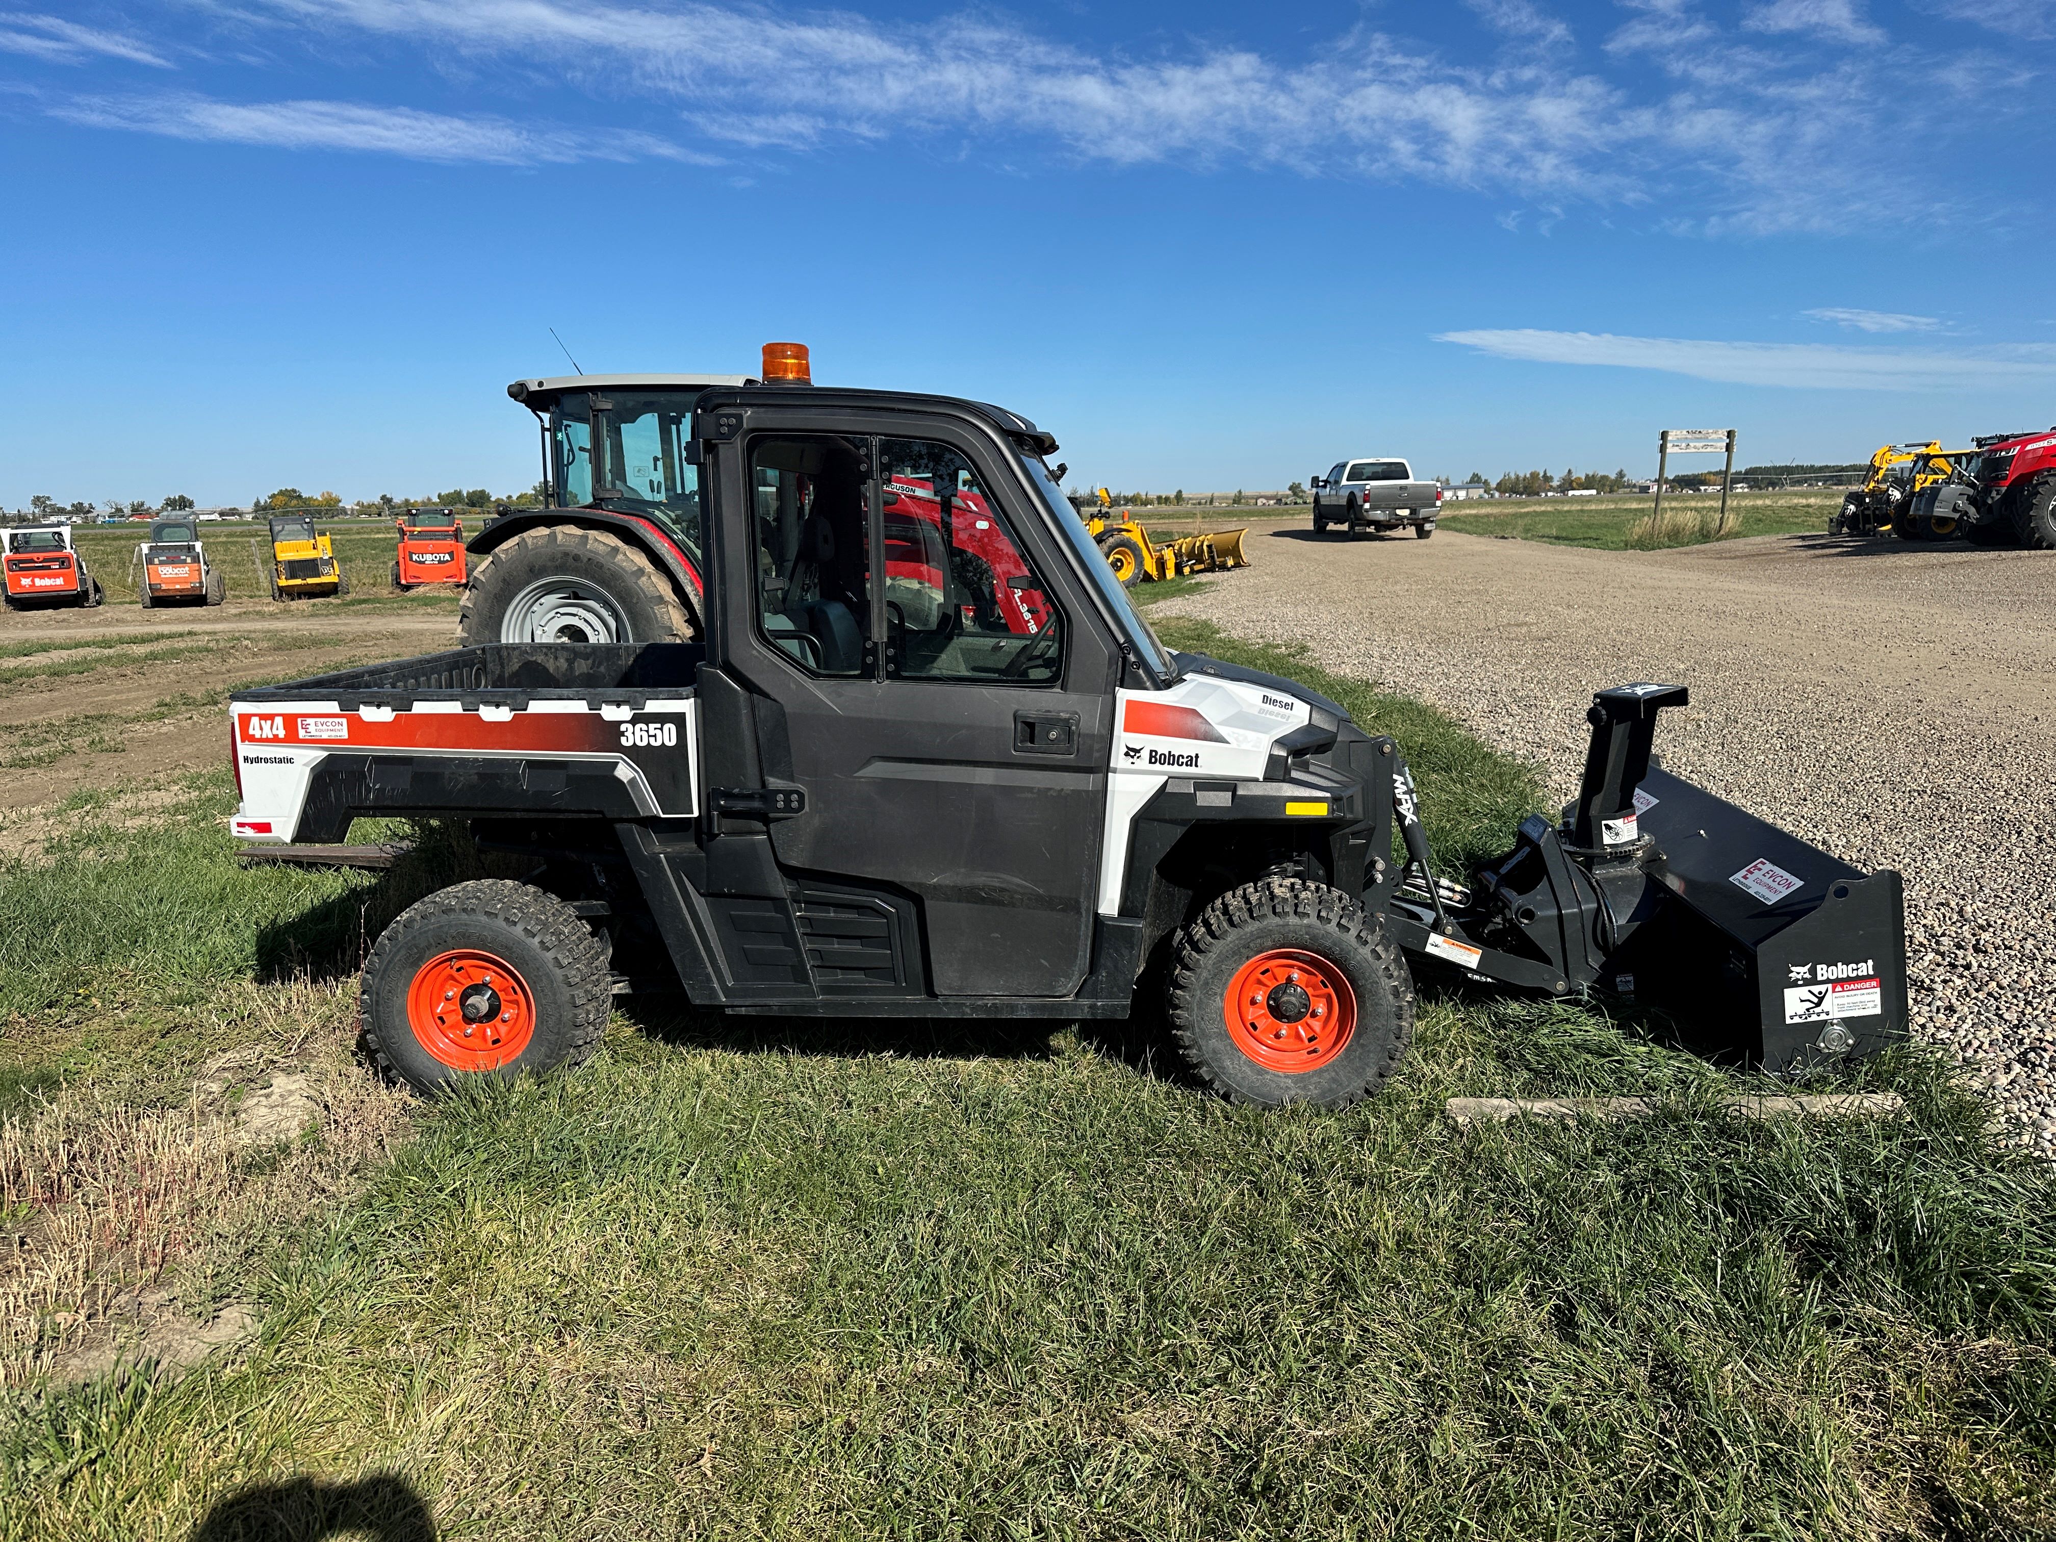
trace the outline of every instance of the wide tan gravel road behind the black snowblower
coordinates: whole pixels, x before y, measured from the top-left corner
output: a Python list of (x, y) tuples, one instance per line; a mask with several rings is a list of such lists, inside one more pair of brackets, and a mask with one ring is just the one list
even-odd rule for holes
[(1252, 530), (1164, 615), (1425, 697), (1577, 787), (1591, 693), (1682, 681), (1665, 765), (1906, 878), (1914, 1032), (2056, 1155), (2056, 553), (1832, 537), (1680, 551)]

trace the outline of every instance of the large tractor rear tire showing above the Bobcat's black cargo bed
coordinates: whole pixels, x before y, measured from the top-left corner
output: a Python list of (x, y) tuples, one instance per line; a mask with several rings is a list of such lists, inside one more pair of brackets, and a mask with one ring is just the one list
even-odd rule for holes
[(699, 625), (656, 563), (627, 541), (576, 524), (522, 530), (471, 570), (456, 639), (693, 641)]

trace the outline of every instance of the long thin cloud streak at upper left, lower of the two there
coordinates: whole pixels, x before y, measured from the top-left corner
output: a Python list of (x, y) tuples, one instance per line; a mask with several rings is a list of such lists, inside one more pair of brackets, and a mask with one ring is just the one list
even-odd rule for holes
[(411, 107), (347, 101), (224, 103), (193, 95), (82, 99), (53, 117), (88, 127), (136, 130), (175, 140), (263, 144), (282, 150), (368, 150), (409, 160), (528, 167), (572, 160), (662, 156), (720, 164), (654, 134), (547, 130), (500, 117), (450, 117)]

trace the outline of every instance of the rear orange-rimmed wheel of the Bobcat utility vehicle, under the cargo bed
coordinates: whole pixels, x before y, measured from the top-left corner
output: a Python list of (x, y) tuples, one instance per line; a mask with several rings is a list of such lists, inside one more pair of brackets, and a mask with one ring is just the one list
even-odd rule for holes
[(613, 1001), (607, 948), (570, 905), (481, 878), (401, 911), (364, 962), (358, 1024), (380, 1069), (436, 1094), (586, 1059)]

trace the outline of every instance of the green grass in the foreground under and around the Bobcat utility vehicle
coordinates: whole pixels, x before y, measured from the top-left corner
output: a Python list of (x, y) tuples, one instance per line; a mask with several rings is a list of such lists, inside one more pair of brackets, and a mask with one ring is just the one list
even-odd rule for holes
[[(1536, 798), (1417, 703), (1166, 631), (1396, 734), (1445, 853)], [(210, 991), (343, 977), (461, 859), (241, 870), (220, 783), (193, 800), (82, 806), (58, 866), (0, 874), (10, 1024), (197, 1059)], [(189, 1003), (144, 1016), (150, 979)], [(1384, 1094), (1252, 1112), (1149, 1022), (633, 1007), (259, 1248), (245, 1355), (25, 1398), (0, 1536), (183, 1538), (216, 1503), (300, 1507), (247, 1536), (419, 1503), (450, 1540), (2056, 1532), (2056, 1182), (1920, 1053), (1820, 1081), (1904, 1121), (1756, 1125), (1713, 1104), (1768, 1084), (1635, 1024), (1431, 993)], [(1665, 1112), (1441, 1116), (1542, 1094)]]

